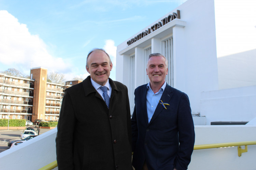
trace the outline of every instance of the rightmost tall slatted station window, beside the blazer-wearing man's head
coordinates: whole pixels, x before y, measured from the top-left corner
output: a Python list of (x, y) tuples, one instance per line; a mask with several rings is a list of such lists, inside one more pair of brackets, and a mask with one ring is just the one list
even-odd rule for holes
[(166, 82), (173, 87), (173, 39), (168, 38), (162, 41), (162, 54), (168, 60), (168, 74), (166, 75)]

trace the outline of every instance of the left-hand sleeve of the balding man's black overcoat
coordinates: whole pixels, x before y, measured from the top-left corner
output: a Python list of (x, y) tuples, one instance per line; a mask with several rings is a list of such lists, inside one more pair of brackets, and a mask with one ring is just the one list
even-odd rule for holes
[(60, 109), (57, 126), (56, 154), (58, 169), (72, 170), (73, 167), (73, 133), (75, 126), (74, 104), (66, 90)]

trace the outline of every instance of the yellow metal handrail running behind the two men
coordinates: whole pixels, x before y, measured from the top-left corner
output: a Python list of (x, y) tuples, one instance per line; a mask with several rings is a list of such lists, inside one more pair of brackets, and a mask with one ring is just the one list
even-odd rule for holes
[[(256, 145), (256, 141), (213, 143), (213, 144), (205, 144), (205, 145), (195, 145), (194, 146), (194, 150), (198, 150), (198, 149), (211, 149), (211, 148), (222, 148), (222, 147), (235, 147), (235, 146), (240, 147), (240, 146), (247, 146), (247, 145)], [(39, 170), (51, 170), (51, 169), (54, 169), (56, 167), (57, 167), (57, 160), (55, 160), (51, 164), (48, 164), (48, 165), (44, 166), (43, 168), (40, 168)]]

